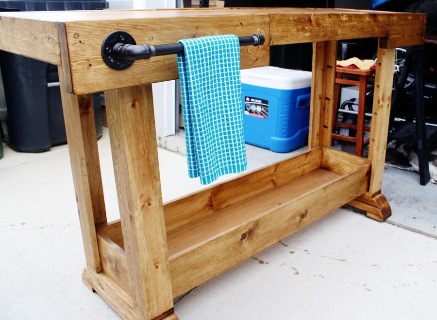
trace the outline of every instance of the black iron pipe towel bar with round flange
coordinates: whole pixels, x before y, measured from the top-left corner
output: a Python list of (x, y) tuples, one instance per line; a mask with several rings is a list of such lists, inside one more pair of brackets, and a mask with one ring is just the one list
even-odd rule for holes
[[(261, 46), (264, 36), (253, 34), (238, 38), (240, 46)], [(137, 45), (134, 38), (124, 31), (115, 31), (104, 39), (101, 45), (101, 56), (106, 65), (114, 70), (125, 70), (132, 66), (135, 60), (149, 59), (152, 56), (183, 53), (181, 43)]]

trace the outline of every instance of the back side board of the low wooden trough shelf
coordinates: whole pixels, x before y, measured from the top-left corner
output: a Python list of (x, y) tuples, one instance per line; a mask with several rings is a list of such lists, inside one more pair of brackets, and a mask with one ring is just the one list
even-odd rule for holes
[(313, 149), (289, 160), (166, 203), (166, 230), (171, 231), (316, 170), (320, 166), (320, 154), (320, 148)]

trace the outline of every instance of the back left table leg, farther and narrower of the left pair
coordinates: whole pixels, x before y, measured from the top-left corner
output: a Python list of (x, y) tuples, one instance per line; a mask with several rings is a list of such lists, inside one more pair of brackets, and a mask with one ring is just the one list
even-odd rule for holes
[(95, 226), (106, 223), (92, 95), (67, 94), (58, 68), (68, 152), (84, 241), (86, 265), (101, 271)]

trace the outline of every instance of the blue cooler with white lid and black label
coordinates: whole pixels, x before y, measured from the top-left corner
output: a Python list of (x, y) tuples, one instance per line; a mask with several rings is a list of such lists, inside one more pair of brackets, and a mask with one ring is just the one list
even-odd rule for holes
[(260, 67), (241, 70), (244, 138), (274, 152), (305, 144), (308, 135), (311, 72)]

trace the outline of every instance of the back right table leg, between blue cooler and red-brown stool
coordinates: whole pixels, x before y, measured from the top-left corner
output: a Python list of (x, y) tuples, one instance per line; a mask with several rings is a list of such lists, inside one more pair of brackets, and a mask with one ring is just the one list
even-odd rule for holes
[(313, 44), (308, 149), (331, 147), (335, 103), (337, 41)]

